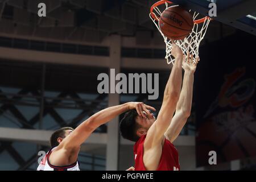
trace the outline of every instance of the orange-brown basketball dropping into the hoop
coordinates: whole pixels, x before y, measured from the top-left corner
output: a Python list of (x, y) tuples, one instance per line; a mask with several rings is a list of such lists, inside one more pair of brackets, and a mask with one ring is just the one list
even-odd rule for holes
[(193, 18), (180, 6), (170, 7), (160, 16), (159, 27), (167, 38), (183, 40), (193, 29)]

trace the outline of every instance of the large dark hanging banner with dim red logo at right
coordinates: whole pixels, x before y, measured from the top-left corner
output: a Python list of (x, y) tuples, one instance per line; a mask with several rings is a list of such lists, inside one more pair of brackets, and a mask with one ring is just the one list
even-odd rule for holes
[(256, 50), (240, 44), (243, 38), (203, 49), (195, 79), (197, 167), (209, 165), (210, 151), (217, 164), (256, 156)]

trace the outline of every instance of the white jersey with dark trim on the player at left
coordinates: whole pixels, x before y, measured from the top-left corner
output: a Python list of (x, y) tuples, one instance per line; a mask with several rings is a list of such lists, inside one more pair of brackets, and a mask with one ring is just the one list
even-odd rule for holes
[(36, 169), (37, 171), (80, 171), (78, 161), (68, 166), (53, 166), (50, 164), (49, 155), (51, 155), (51, 152), (55, 150), (55, 148), (56, 147), (51, 148), (51, 150), (47, 152), (46, 156), (44, 156), (38, 168)]

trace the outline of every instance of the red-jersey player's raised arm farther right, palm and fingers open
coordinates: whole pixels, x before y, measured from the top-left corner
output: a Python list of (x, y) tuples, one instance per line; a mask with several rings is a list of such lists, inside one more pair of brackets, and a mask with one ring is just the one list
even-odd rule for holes
[(183, 68), (185, 71), (183, 77), (183, 86), (179, 101), (177, 102), (175, 115), (174, 118), (172, 118), (171, 124), (166, 133), (164, 134), (166, 138), (170, 140), (170, 142), (174, 142), (174, 140), (179, 136), (180, 131), (183, 129), (191, 113), (194, 72), (196, 71), (196, 65), (199, 61), (199, 57), (197, 58), (195, 64), (192, 61), (193, 55), (191, 58), (189, 57), (190, 55), (188, 53), (188, 59), (184, 60), (183, 62)]

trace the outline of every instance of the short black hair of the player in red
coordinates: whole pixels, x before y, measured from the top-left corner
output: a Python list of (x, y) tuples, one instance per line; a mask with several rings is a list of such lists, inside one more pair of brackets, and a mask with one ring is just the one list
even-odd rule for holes
[(125, 113), (125, 116), (122, 118), (119, 125), (122, 137), (133, 142), (137, 142), (139, 140), (139, 136), (136, 132), (141, 125), (139, 125), (135, 120), (137, 116), (138, 113), (135, 109), (129, 110)]

